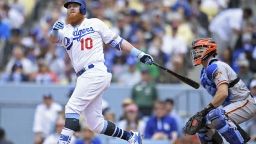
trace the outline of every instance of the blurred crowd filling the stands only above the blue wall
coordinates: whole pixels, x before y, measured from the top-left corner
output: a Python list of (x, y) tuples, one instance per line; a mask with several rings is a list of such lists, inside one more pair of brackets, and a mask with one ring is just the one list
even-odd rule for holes
[[(256, 72), (255, 20), (250, 8), (234, 9), (242, 3), (239, 0), (85, 1), (87, 18), (101, 19), (135, 47), (153, 55), (156, 62), (177, 73), (187, 75), (194, 68), (189, 56), (193, 39), (210, 36), (218, 42), (218, 58), (229, 63), (246, 84)], [(76, 81), (65, 49), (49, 42), (54, 22), (65, 21), (64, 2), (37, 0), (34, 9), (27, 12), (26, 5), (18, 0), (0, 0), (1, 83)], [(105, 64), (112, 68), (113, 82), (134, 85), (140, 81), (142, 66), (137, 59), (109, 45), (104, 46), (104, 53)], [(179, 82), (156, 66), (147, 67), (154, 82)]]

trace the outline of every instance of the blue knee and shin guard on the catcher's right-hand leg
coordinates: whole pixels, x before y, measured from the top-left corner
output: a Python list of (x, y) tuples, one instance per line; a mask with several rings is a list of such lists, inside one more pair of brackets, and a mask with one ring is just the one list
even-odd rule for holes
[(207, 114), (207, 119), (211, 121), (213, 127), (231, 144), (242, 144), (244, 139), (233, 126), (229, 126), (228, 117), (224, 116), (225, 110), (216, 108)]

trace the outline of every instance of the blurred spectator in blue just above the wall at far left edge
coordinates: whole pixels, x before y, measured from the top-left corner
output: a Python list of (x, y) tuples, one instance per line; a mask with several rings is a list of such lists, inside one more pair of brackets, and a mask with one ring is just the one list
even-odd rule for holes
[(22, 70), (22, 65), (20, 62), (16, 62), (14, 64), (14, 66), (12, 66), (12, 72), (10, 75), (8, 74), (3, 74), (1, 76), (1, 82), (2, 83), (5, 83), (5, 82), (14, 82), (16, 84), (20, 83), (20, 82), (24, 82), (24, 81), (28, 81), (29, 80), (29, 77), (28, 75), (25, 75), (23, 73), (23, 70)]

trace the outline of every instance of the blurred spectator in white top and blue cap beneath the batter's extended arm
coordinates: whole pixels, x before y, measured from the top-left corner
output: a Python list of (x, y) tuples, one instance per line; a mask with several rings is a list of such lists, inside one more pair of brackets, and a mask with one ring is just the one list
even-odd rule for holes
[(129, 69), (119, 77), (118, 82), (121, 85), (133, 86), (141, 81), (141, 74), (136, 69), (137, 59), (133, 56), (128, 56), (126, 63), (129, 65)]

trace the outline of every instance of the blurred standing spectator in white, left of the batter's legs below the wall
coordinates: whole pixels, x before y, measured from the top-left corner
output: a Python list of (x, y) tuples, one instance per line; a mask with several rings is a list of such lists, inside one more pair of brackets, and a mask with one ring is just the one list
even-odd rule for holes
[(35, 144), (42, 144), (43, 139), (52, 132), (52, 126), (58, 118), (58, 112), (62, 111), (62, 106), (53, 102), (50, 93), (43, 95), (43, 103), (37, 105), (34, 115), (33, 132), (36, 134)]

